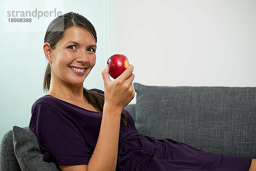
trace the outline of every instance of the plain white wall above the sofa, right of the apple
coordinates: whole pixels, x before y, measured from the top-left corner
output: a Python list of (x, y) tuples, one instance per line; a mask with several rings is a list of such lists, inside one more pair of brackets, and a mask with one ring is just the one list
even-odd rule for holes
[(134, 82), (256, 87), (255, 0), (109, 0), (108, 6), (109, 53), (127, 55)]

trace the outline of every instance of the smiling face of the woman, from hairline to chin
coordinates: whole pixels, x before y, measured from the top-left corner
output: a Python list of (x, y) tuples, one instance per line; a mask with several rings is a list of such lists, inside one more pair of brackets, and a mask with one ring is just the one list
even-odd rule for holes
[[(89, 31), (73, 26), (65, 30), (52, 49), (52, 75), (68, 85), (81, 85), (95, 65), (96, 43)], [(81, 72), (82, 71), (82, 72)]]

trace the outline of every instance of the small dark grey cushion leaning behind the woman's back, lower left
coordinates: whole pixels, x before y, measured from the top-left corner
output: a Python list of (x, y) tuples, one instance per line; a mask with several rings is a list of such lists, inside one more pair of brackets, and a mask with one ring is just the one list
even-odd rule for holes
[(37, 137), (29, 129), (13, 127), (15, 156), (22, 171), (58, 171), (54, 163), (44, 162)]

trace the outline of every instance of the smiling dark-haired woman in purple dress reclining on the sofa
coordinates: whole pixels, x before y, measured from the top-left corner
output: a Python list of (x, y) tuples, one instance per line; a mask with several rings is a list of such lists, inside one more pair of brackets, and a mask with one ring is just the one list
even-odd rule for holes
[(107, 65), (104, 92), (84, 88), (96, 61), (97, 37), (83, 16), (70, 12), (55, 18), (44, 42), (48, 93), (33, 104), (29, 123), (44, 161), (62, 171), (256, 171), (251, 158), (212, 154), (138, 132), (123, 109), (134, 98), (132, 65), (114, 81)]

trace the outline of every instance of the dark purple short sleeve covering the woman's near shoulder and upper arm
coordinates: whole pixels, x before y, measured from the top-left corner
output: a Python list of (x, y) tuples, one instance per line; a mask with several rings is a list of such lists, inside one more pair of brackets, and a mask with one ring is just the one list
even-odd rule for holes
[(45, 162), (57, 165), (88, 165), (92, 151), (75, 122), (46, 103), (32, 107), (29, 129), (35, 133)]

